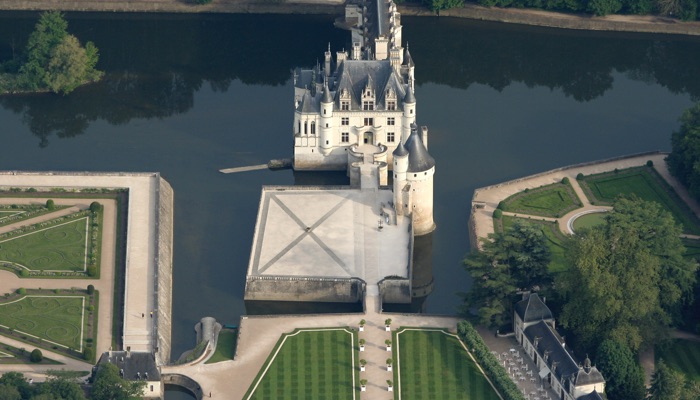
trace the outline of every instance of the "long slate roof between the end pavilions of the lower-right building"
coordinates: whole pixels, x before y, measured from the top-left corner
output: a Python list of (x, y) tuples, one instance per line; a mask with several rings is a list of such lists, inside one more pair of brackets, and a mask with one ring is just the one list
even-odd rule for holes
[[(545, 363), (552, 374), (557, 377), (559, 382), (566, 385), (568, 378), (579, 372), (579, 367), (574, 361), (571, 354), (564, 348), (559, 337), (552, 331), (546, 322), (540, 321), (534, 325), (525, 328), (525, 336), (530, 343), (535, 344), (537, 341), (537, 354), (544, 360), (545, 352), (547, 352), (547, 360)], [(553, 364), (556, 363), (556, 368), (553, 369)], [(565, 381), (563, 378), (567, 378)], [(568, 387), (566, 387), (568, 389)]]

